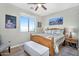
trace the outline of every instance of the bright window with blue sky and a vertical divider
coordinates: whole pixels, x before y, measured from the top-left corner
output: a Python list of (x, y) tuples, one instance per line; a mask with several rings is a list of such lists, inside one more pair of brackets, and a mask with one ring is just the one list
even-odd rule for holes
[(21, 32), (35, 31), (35, 19), (26, 16), (20, 16), (20, 31)]

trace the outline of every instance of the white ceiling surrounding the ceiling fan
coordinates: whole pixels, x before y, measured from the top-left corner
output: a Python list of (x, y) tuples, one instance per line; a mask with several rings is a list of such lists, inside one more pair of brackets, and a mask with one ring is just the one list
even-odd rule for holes
[(55, 12), (59, 12), (68, 8), (76, 7), (79, 5), (79, 3), (46, 3), (44, 4), (44, 6), (47, 8), (47, 10), (44, 10), (43, 8), (40, 7), (37, 11), (31, 8), (31, 7), (36, 7), (36, 5), (33, 5), (33, 4), (12, 3), (11, 5), (17, 6), (21, 9), (27, 10), (39, 16), (46, 16), (46, 15), (50, 15), (51, 13), (55, 13)]

